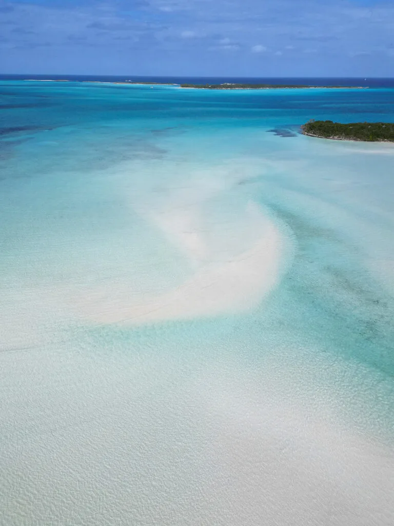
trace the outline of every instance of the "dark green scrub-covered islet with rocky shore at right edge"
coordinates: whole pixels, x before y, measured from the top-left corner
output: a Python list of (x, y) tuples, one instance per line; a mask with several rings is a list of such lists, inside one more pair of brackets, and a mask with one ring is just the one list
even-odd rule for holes
[(301, 126), (304, 135), (335, 140), (362, 140), (394, 143), (394, 123), (334, 123), (332, 120), (309, 120)]

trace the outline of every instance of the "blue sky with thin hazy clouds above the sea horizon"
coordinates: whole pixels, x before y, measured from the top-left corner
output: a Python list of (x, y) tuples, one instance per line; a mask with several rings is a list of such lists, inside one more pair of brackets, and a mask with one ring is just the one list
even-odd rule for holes
[(0, 72), (394, 77), (394, 0), (0, 0)]

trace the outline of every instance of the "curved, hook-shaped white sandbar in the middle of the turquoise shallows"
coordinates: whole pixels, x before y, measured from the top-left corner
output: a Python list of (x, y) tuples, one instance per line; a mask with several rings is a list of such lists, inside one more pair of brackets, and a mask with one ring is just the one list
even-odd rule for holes
[[(194, 206), (144, 213), (163, 235), (188, 258), (193, 274), (178, 287), (153, 297), (135, 297), (132, 284), (106, 284), (84, 297), (71, 299), (80, 316), (99, 323), (141, 323), (191, 319), (234, 312), (255, 306), (275, 285), (281, 241), (276, 227), (255, 203), (248, 203), (241, 218), (244, 231), (223, 232), (228, 243), (221, 249), (208, 242), (209, 227), (203, 227), (201, 209)], [(252, 242), (234, 250), (234, 239)], [(219, 242), (219, 240), (218, 240)], [(132, 262), (131, 262), (132, 264)]]

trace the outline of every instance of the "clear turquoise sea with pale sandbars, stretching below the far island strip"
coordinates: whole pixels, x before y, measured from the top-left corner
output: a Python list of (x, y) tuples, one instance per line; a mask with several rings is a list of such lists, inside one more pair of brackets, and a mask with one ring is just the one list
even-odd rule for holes
[(391, 525), (394, 90), (0, 92), (0, 524)]

